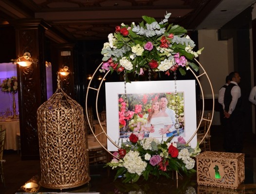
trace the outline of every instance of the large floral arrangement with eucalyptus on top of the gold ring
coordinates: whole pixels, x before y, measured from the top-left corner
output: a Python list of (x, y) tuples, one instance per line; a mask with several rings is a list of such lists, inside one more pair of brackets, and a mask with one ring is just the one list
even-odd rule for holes
[(201, 54), (202, 49), (193, 51), (196, 46), (194, 41), (186, 35), (186, 30), (168, 23), (170, 13), (158, 23), (155, 18), (142, 16), (144, 21), (131, 26), (121, 24), (115, 28), (115, 33), (110, 33), (109, 42), (104, 43), (101, 54), (104, 55), (100, 71), (126, 70), (128, 73), (142, 75), (144, 70), (170, 72), (179, 69), (185, 75), (183, 67), (190, 65), (195, 71), (198, 66), (193, 59)]

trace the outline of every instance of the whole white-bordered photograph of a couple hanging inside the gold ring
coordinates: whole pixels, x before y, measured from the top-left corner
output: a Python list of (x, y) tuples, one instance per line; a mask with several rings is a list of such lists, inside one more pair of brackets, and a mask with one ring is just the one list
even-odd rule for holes
[[(186, 141), (191, 139), (197, 129), (195, 80), (177, 81), (177, 100), (174, 81), (134, 81), (127, 83), (126, 88), (125, 95), (124, 82), (106, 82), (109, 151), (116, 151), (122, 142), (129, 141), (131, 133), (160, 141), (169, 136), (174, 136), (173, 141), (180, 136)], [(178, 129), (174, 127), (176, 108)], [(190, 144), (197, 145), (196, 136)]]

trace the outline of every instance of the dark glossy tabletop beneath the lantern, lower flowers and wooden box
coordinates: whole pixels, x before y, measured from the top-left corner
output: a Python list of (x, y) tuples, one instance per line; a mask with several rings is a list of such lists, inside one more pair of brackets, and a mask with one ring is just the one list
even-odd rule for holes
[[(64, 189), (62, 193), (100, 193), (100, 194), (256, 194), (254, 163), (256, 160), (247, 160), (248, 167), (245, 170), (245, 181), (238, 189), (227, 189), (197, 185), (196, 174), (187, 177), (159, 179), (151, 178), (148, 181), (139, 180), (136, 183), (122, 183), (122, 178), (113, 181), (115, 170), (105, 168), (104, 165), (91, 165), (91, 181), (83, 186), (73, 189)], [(252, 168), (249, 168), (252, 164)], [(22, 192), (18, 190), (17, 192)], [(61, 192), (40, 187), (38, 192)]]

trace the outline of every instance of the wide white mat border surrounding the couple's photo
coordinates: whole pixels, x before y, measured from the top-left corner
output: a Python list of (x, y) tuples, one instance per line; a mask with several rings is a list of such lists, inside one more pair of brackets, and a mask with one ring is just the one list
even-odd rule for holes
[[(125, 93), (124, 82), (106, 82), (106, 113), (107, 113), (107, 134), (109, 138), (121, 146), (119, 140), (119, 108), (118, 94)], [(184, 123), (185, 123), (185, 141), (188, 141), (197, 130), (196, 123), (196, 83), (195, 80), (177, 81), (177, 92), (184, 94)], [(143, 94), (143, 93), (165, 93), (174, 92), (174, 81), (133, 81), (126, 84), (127, 94)], [(161, 138), (162, 139), (162, 138)], [(164, 138), (166, 140), (167, 138)], [(178, 137), (174, 137), (173, 141), (178, 141)], [(127, 139), (123, 139), (126, 141)], [(197, 146), (197, 137), (190, 142), (194, 148)], [(113, 145), (108, 139), (108, 150), (117, 151), (117, 146)]]

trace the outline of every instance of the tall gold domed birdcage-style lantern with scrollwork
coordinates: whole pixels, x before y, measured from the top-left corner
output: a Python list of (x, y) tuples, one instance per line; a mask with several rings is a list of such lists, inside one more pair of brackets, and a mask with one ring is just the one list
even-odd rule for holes
[(58, 79), (55, 94), (37, 110), (42, 187), (66, 189), (90, 181), (84, 122), (83, 108)]

